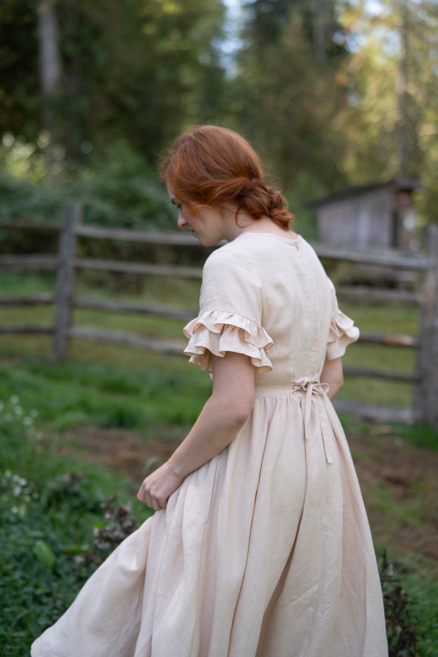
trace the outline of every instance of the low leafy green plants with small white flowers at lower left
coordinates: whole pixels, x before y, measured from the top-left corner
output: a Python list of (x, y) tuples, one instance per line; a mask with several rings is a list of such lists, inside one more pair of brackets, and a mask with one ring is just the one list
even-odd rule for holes
[[(37, 409), (16, 395), (0, 406), (0, 652), (22, 657), (152, 511), (120, 476), (43, 448)], [(105, 502), (121, 488), (135, 501), (135, 522), (127, 502)], [(98, 535), (110, 543), (97, 545)]]

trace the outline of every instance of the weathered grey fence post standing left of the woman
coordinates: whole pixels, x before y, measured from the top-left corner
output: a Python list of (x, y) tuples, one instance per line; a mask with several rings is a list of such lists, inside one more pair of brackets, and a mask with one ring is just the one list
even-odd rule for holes
[(51, 360), (62, 363), (68, 357), (68, 330), (72, 323), (72, 298), (74, 294), (77, 237), (74, 229), (82, 221), (80, 205), (66, 207), (64, 227), (59, 240), (59, 266), (55, 300), (55, 334)]

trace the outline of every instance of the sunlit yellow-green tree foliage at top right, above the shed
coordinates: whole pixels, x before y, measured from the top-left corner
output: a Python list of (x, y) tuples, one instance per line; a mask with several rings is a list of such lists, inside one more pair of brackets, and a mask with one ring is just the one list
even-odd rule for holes
[[(373, 11), (371, 11), (373, 10)], [(350, 183), (416, 177), (424, 219), (437, 220), (438, 5), (431, 0), (364, 1), (342, 16), (351, 57), (349, 102), (335, 121), (345, 139)]]

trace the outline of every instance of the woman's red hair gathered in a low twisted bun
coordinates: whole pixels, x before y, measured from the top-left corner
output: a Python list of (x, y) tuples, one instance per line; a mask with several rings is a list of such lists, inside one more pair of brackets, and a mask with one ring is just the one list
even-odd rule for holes
[(232, 201), (238, 211), (244, 208), (253, 219), (265, 215), (281, 228), (290, 229), (294, 215), (287, 210), (288, 202), (267, 186), (259, 156), (233, 130), (201, 125), (182, 133), (165, 150), (159, 169), (162, 179), (192, 214), (201, 206)]

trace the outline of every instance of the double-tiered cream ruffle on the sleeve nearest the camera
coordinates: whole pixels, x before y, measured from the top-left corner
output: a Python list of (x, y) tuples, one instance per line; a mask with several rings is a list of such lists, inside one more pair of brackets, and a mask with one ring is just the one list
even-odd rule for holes
[(250, 356), (256, 374), (273, 369), (265, 353), (273, 346), (273, 340), (264, 328), (243, 315), (209, 310), (192, 319), (183, 331), (190, 338), (184, 350), (184, 353), (190, 355), (188, 362), (198, 365), (209, 374), (213, 372), (211, 354), (225, 356), (227, 351)]

